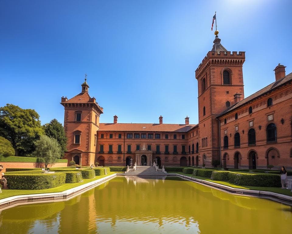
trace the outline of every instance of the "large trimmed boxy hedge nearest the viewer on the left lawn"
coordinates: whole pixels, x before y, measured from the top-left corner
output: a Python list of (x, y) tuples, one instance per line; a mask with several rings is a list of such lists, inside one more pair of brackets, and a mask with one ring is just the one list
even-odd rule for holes
[(5, 175), (10, 189), (39, 190), (58, 187), (65, 183), (64, 173)]

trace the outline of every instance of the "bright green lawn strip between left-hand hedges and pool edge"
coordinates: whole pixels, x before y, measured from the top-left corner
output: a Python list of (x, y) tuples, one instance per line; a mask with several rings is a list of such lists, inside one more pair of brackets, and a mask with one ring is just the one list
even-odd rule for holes
[(2, 190), (2, 193), (0, 193), (0, 199), (6, 198), (6, 197), (12, 197), (12, 196), (17, 196), (17, 195), (28, 195), (28, 194), (38, 194), (38, 193), (58, 193), (58, 192), (63, 192), (68, 189), (72, 189), (74, 187), (77, 187), (82, 184), (89, 183), (91, 181), (113, 175), (114, 173), (120, 173), (120, 172), (109, 172), (107, 175), (103, 176), (96, 176), (93, 179), (83, 179), (83, 182), (81, 183), (67, 183), (63, 184), (59, 187), (56, 188), (51, 188), (51, 189), (41, 189), (41, 190), (12, 190), (12, 189), (5, 189)]

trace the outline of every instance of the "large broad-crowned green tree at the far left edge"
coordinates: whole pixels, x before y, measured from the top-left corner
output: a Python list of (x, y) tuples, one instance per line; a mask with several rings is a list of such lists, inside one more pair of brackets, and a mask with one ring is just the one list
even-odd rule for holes
[(0, 107), (0, 136), (11, 142), (15, 156), (34, 150), (34, 141), (44, 134), (39, 118), (32, 109), (12, 104)]

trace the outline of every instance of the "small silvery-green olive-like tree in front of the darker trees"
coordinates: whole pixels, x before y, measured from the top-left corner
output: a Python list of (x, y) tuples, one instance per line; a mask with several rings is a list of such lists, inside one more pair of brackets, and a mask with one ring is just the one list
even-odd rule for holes
[(55, 138), (46, 135), (40, 136), (35, 145), (36, 150), (33, 155), (36, 158), (42, 158), (45, 167), (55, 164), (61, 158), (61, 148)]

